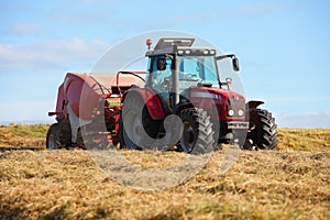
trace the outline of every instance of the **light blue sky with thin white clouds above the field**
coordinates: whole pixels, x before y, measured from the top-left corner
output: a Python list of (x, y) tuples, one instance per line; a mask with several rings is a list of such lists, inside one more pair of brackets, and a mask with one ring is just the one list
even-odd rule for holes
[[(0, 124), (55, 122), (68, 72), (157, 30), (187, 32), (240, 59), (248, 100), (278, 127), (330, 128), (330, 1), (2, 0)], [(142, 69), (145, 70), (145, 69)]]

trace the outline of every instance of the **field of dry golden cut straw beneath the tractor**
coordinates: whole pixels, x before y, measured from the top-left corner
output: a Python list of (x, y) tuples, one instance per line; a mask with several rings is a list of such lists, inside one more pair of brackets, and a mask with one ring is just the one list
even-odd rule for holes
[[(139, 190), (106, 175), (88, 151), (44, 150), (47, 128), (0, 127), (0, 219), (330, 219), (329, 129), (279, 129), (278, 151), (241, 151), (226, 173), (226, 148), (216, 151), (178, 186)], [(187, 156), (119, 153), (147, 168)]]

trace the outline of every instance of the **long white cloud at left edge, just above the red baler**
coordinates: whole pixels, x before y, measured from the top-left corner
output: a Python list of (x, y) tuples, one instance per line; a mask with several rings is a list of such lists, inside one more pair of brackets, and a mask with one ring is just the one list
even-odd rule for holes
[(78, 37), (35, 44), (0, 44), (0, 68), (37, 68), (96, 61), (109, 44)]

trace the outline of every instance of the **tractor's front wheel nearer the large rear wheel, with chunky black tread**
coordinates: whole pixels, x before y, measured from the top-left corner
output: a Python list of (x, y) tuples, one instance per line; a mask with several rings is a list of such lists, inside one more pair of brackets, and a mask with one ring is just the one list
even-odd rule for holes
[(179, 150), (202, 154), (213, 150), (216, 140), (213, 138), (210, 117), (202, 109), (189, 108), (179, 112), (183, 121), (183, 134), (179, 140)]

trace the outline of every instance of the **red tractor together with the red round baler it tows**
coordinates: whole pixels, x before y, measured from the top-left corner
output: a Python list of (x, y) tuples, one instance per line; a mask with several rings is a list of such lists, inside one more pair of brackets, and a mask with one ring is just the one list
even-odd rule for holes
[[(263, 102), (245, 102), (242, 95), (230, 90), (230, 79), (220, 80), (217, 62), (231, 58), (238, 72), (235, 55), (217, 56), (215, 48), (194, 47), (194, 41), (161, 38), (145, 54), (144, 85), (141, 72), (120, 72), (112, 85), (68, 74), (59, 87), (56, 112), (50, 112), (57, 116), (58, 123), (48, 131), (47, 147), (112, 142), (135, 150), (175, 145), (193, 154), (212, 151), (217, 143), (275, 148), (275, 119), (257, 108)], [(150, 48), (151, 40), (146, 43)]]

